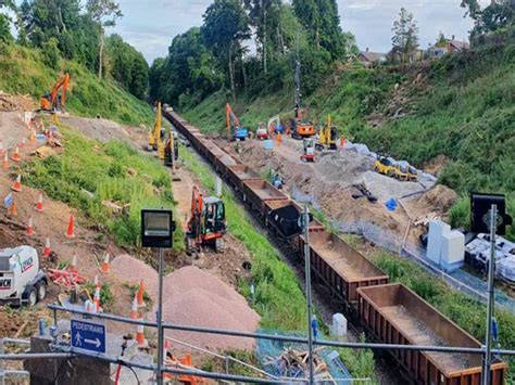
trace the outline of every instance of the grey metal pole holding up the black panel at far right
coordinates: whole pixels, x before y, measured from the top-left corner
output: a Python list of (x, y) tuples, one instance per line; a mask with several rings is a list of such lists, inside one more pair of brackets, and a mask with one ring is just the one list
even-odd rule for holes
[(492, 317), (493, 317), (493, 275), (495, 273), (495, 231), (498, 219), (498, 206), (492, 205), (490, 208), (490, 260), (488, 265), (488, 303), (487, 303), (487, 351), (485, 354), (485, 367), (482, 370), (482, 384), (490, 385), (490, 367), (491, 367), (491, 345), (492, 345)]

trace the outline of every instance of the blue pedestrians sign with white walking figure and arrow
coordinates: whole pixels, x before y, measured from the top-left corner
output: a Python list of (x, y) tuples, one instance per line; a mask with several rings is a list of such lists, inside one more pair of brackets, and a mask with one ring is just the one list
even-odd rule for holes
[(105, 322), (78, 316), (72, 319), (72, 347), (105, 354)]

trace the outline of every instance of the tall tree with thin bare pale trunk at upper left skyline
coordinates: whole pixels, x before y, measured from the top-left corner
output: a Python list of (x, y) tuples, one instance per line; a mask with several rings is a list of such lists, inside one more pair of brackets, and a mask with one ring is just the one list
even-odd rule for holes
[(91, 20), (99, 25), (99, 79), (101, 79), (105, 28), (114, 27), (116, 18), (123, 17), (123, 13), (120, 4), (113, 0), (88, 0), (86, 10)]

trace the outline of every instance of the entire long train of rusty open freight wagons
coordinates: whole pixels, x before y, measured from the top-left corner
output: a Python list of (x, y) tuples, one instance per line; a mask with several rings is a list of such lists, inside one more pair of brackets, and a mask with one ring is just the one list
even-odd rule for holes
[[(298, 219), (301, 207), (288, 195), (240, 164), (175, 112), (165, 117), (203, 155), (235, 190), (293, 261), (304, 258), (304, 238)], [(439, 345), (479, 348), (481, 344), (413, 291), (389, 283), (388, 275), (372, 265), (341, 238), (311, 218), (309, 248), (314, 279), (341, 312), (360, 324), (370, 339), (386, 344)], [(390, 350), (399, 371), (415, 384), (480, 384), (480, 356)], [(492, 384), (504, 384), (507, 364), (492, 364)]]

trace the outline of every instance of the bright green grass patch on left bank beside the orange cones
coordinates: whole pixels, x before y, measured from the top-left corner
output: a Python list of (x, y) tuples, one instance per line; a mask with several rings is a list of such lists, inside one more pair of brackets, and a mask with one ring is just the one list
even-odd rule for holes
[[(24, 180), (79, 209), (85, 224), (103, 226), (118, 244), (137, 245), (141, 208), (174, 206), (166, 169), (126, 143), (103, 144), (63, 126), (60, 130), (64, 134), (63, 153), (33, 158), (24, 165)], [(128, 167), (136, 170), (135, 176), (127, 172)], [(115, 216), (102, 204), (104, 201), (129, 206), (126, 214)], [(180, 248), (180, 230), (174, 238)]]

